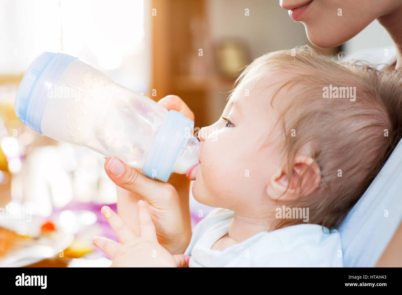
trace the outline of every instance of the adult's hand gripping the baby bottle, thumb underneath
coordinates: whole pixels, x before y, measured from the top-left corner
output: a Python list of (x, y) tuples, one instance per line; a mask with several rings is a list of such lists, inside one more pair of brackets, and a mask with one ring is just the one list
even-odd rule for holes
[[(175, 95), (168, 95), (158, 103), (194, 120), (193, 112)], [(119, 216), (134, 233), (139, 233), (137, 202), (143, 199), (154, 222), (159, 243), (171, 254), (183, 254), (191, 239), (190, 181), (185, 175), (172, 173), (168, 183), (160, 182), (143, 175), (114, 156), (106, 160), (105, 171), (117, 184)]]

